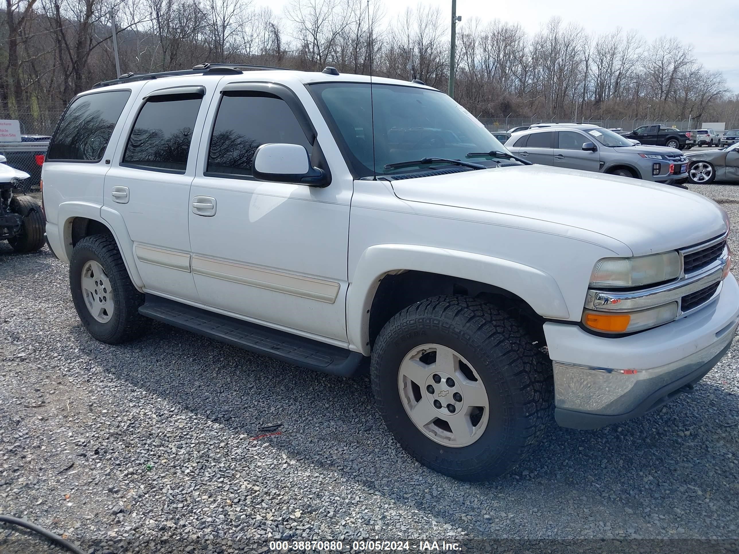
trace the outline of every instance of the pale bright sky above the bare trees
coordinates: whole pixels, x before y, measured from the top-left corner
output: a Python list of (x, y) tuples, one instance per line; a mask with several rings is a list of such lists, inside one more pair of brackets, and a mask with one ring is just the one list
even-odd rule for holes
[[(256, 0), (279, 12), (289, 0)], [(415, 7), (418, 0), (379, 0), (386, 21)], [(423, 0), (449, 13), (452, 0)], [(647, 41), (661, 35), (677, 36), (695, 47), (695, 57), (709, 69), (718, 69), (734, 92), (739, 92), (739, 0), (457, 0), (462, 23), (474, 16), (483, 21), (499, 18), (520, 23), (536, 33), (550, 18), (574, 21), (588, 32), (609, 33), (616, 27), (636, 29)], [(459, 28), (459, 27), (457, 27)]]

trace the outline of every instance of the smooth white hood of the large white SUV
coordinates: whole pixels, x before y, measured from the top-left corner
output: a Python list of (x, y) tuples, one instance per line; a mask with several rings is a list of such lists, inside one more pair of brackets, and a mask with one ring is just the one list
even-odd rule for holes
[[(545, 165), (518, 165), (392, 181), (398, 198), (505, 213), (584, 229), (633, 256), (704, 242), (725, 232), (725, 212), (670, 185)], [(525, 221), (521, 222), (525, 227)]]

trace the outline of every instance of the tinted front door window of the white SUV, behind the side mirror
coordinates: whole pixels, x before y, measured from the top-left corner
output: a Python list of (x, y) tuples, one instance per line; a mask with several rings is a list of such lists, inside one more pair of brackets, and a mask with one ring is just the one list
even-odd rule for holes
[(311, 148), (285, 100), (248, 92), (225, 94), (218, 106), (206, 173), (250, 177), (254, 152), (267, 143)]

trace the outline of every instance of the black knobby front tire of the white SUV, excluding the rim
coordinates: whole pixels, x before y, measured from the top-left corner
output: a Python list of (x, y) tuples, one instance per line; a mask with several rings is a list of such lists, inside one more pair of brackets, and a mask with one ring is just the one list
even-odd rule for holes
[[(551, 363), (514, 318), (466, 296), (437, 296), (399, 312), (372, 349), (370, 375), (380, 414), (401, 446), (423, 465), (463, 481), (503, 475), (528, 456), (552, 420)], [(452, 448), (426, 437), (406, 414), (398, 369), (415, 347), (436, 343), (474, 366), (488, 394), (485, 431)]]

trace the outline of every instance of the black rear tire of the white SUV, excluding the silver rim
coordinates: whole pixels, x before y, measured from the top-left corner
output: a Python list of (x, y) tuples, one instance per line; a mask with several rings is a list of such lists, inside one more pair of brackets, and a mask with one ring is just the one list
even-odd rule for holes
[[(92, 317), (84, 300), (81, 286), (82, 268), (88, 261), (97, 261), (110, 280), (115, 305), (112, 318), (101, 323)], [(69, 261), (69, 289), (75, 310), (93, 338), (103, 343), (120, 344), (140, 337), (149, 328), (149, 319), (138, 312), (144, 295), (134, 287), (123, 264), (115, 239), (109, 235), (86, 236), (75, 244)]]

